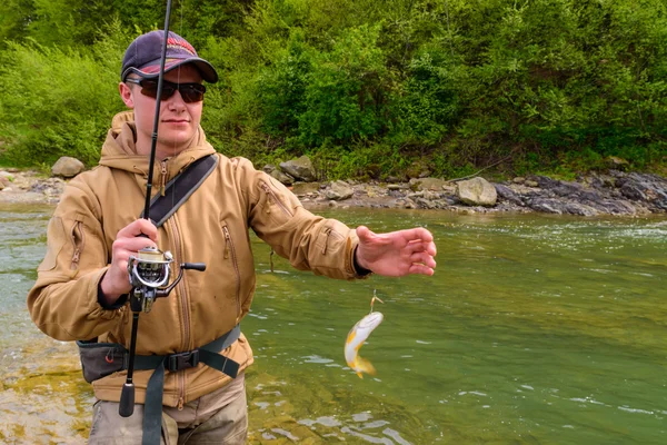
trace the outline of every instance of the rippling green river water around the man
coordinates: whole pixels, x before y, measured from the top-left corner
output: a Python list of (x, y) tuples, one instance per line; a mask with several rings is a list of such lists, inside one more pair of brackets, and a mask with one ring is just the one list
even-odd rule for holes
[[(24, 309), (50, 208), (0, 208), (0, 438), (83, 443), (76, 352)], [(667, 219), (338, 210), (376, 231), (426, 226), (434, 277), (336, 281), (255, 240), (242, 324), (250, 443), (667, 443)], [(374, 290), (385, 322), (345, 365)], [(44, 354), (44, 350), (47, 353)], [(1, 442), (1, 441), (0, 441)]]

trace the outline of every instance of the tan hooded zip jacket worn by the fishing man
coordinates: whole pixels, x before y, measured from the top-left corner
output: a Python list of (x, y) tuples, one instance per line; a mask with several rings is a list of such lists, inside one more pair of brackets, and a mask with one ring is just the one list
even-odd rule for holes
[[(28, 307), (37, 326), (56, 339), (99, 337), (129, 347), (129, 305), (104, 309), (97, 296), (116, 234), (143, 210), (149, 159), (136, 154), (133, 131), (131, 112), (115, 117), (99, 166), (69, 182), (49, 222), (48, 250)], [(187, 150), (156, 162), (153, 191), (160, 192), (193, 160), (215, 152), (200, 128)], [(216, 170), (159, 229), (158, 247), (170, 250), (175, 264), (205, 263), (207, 269), (186, 271), (169, 297), (140, 315), (139, 355), (191, 350), (220, 337), (248, 314), (255, 293), (249, 228), (297, 269), (357, 277), (354, 230), (305, 210), (289, 190), (247, 159), (217, 156)], [(223, 354), (241, 369), (253, 362), (243, 335)], [(143, 403), (151, 373), (135, 373), (138, 403)], [(118, 402), (125, 380), (125, 372), (96, 380), (96, 397)], [(203, 364), (167, 373), (163, 404), (178, 406), (229, 380)]]

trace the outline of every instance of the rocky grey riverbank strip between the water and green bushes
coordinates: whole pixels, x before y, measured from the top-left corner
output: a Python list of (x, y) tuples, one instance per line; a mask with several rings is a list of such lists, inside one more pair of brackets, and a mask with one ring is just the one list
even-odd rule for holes
[[(370, 207), (579, 216), (667, 214), (667, 178), (658, 175), (609, 170), (576, 181), (546, 176), (504, 182), (479, 179), (472, 186), (482, 187), (486, 182), (487, 189), (490, 187), (486, 192), (490, 191), (491, 197), (482, 199), (484, 205), (467, 198), (466, 182), (469, 181), (414, 178), (404, 182), (296, 181), (290, 187), (303, 206), (312, 209)], [(66, 184), (67, 179), (36, 171), (0, 170), (0, 202), (57, 204)]]

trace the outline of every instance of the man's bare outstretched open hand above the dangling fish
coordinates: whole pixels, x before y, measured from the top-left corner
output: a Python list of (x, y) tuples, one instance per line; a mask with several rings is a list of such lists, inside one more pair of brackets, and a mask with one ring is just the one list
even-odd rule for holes
[(357, 264), (387, 277), (408, 274), (434, 275), (436, 244), (425, 228), (375, 234), (366, 226), (357, 227), (359, 246)]

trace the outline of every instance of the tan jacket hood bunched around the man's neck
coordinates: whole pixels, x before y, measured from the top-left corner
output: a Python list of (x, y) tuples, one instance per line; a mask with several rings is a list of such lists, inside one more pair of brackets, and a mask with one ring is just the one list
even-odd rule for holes
[[(150, 157), (137, 154), (135, 145), (136, 135), (135, 113), (132, 111), (122, 111), (116, 115), (111, 121), (107, 139), (102, 145), (99, 165), (148, 177)], [(165, 179), (170, 180), (195, 160), (213, 152), (216, 150), (206, 141), (206, 135), (200, 126), (190, 146), (172, 158), (167, 159), (169, 168), (166, 178), (158, 179), (161, 162), (156, 160), (156, 165), (153, 166), (153, 169), (156, 169), (153, 171), (153, 184), (165, 181)]]

